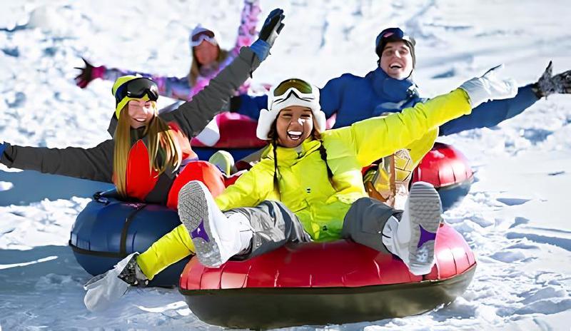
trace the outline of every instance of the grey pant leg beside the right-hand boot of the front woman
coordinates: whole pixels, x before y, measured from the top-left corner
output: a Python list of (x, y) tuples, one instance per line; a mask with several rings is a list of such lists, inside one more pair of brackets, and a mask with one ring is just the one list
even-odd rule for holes
[(394, 216), (400, 220), (401, 210), (395, 210), (373, 198), (360, 198), (349, 208), (343, 220), (341, 236), (383, 253), (390, 253), (383, 245), (383, 228)]

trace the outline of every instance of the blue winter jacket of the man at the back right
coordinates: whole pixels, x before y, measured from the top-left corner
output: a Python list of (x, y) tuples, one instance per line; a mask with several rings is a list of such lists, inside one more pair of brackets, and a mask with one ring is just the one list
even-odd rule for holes
[[(268, 105), (268, 96), (242, 95), (238, 113), (258, 119), (260, 110)], [(412, 79), (390, 78), (377, 68), (365, 77), (344, 73), (328, 81), (320, 90), (320, 104), (328, 118), (337, 113), (333, 128), (397, 112), (425, 101), (418, 95)], [(473, 128), (490, 128), (525, 111), (539, 100), (532, 91), (532, 84), (520, 87), (514, 98), (482, 103), (470, 115), (456, 118), (440, 126), (440, 136), (448, 136)]]

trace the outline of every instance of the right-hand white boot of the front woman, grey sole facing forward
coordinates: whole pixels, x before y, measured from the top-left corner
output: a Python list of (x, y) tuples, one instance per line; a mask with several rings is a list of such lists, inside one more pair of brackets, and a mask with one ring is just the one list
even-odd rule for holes
[(383, 228), (383, 244), (414, 275), (430, 273), (434, 265), (436, 232), (442, 223), (440, 195), (433, 185), (417, 182), (410, 189), (400, 221), (390, 217)]

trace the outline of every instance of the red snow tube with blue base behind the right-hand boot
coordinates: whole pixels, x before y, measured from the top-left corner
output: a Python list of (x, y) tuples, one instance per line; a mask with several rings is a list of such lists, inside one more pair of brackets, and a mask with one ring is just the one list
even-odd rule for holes
[(468, 194), (474, 174), (463, 153), (445, 143), (435, 143), (413, 172), (412, 182), (418, 181), (434, 185), (443, 210), (448, 210)]

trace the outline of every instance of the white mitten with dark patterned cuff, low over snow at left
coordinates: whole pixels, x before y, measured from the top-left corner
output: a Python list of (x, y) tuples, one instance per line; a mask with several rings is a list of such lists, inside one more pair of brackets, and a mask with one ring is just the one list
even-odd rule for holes
[(128, 255), (113, 269), (86, 282), (84, 303), (88, 310), (92, 312), (106, 310), (122, 297), (131, 285), (147, 285), (148, 278), (137, 264), (137, 255), (138, 253)]

